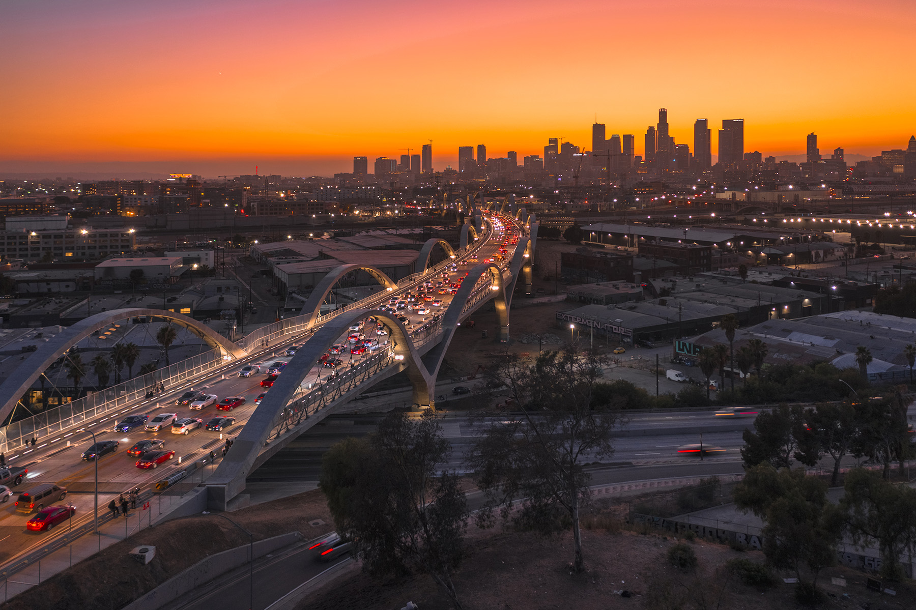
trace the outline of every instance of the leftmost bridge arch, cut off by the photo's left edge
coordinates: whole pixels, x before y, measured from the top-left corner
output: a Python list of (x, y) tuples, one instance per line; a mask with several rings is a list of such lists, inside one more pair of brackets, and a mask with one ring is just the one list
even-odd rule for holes
[[(142, 308), (127, 308), (96, 313), (94, 316), (68, 326), (48, 343), (42, 344), (38, 350), (27, 357), (25, 362), (18, 366), (16, 371), (22, 371), (21, 375), (11, 376), (6, 379), (3, 385), (0, 385), (0, 400), (3, 400), (3, 404), (0, 406), (0, 421), (6, 419), (6, 416), (16, 407), (16, 403), (28, 391), (28, 388), (32, 387), (32, 384), (38, 380), (38, 377), (73, 345), (92, 336), (100, 329), (111, 326), (116, 321), (146, 317), (169, 320), (178, 326), (188, 329), (188, 331), (201, 337), (204, 342), (213, 347), (214, 351), (219, 351), (220, 355), (231, 355), (235, 358), (245, 356), (244, 350), (239, 349), (223, 335), (213, 332), (210, 327), (204, 326), (201, 322), (180, 313)], [(88, 363), (86, 365), (88, 366)]]

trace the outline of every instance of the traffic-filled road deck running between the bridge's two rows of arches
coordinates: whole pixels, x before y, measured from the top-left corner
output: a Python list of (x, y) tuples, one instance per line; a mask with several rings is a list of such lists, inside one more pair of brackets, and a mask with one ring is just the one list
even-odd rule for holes
[[(492, 234), (490, 242), (478, 248), (473, 257), (465, 256), (456, 259), (453, 270), (444, 274), (444, 277), (437, 276), (434, 281), (442, 281), (446, 284), (456, 283), (459, 281), (459, 278), (463, 276), (463, 271), (469, 267), (473, 267), (477, 260), (495, 256), (496, 251), (500, 247), (498, 238), (511, 240), (512, 236), (518, 236), (518, 229), (514, 225), (510, 225), (510, 227), (511, 228), (507, 228), (505, 232), (497, 228)], [(511, 247), (511, 245), (507, 247)], [(465, 260), (465, 258), (467, 260)], [(441, 310), (445, 310), (451, 302), (452, 294), (447, 291), (440, 294), (442, 289), (438, 287), (434, 288), (436, 288), (436, 290), (432, 294), (434, 294), (436, 299), (442, 300)], [(400, 296), (406, 299), (406, 293), (394, 296)], [(429, 315), (421, 315), (418, 312), (420, 308), (416, 307), (416, 305), (417, 303), (414, 302), (411, 305), (412, 310), (408, 310), (405, 307), (404, 310), (398, 311), (407, 318), (405, 323), (411, 330), (421, 328), (424, 323), (429, 323)], [(283, 350), (290, 345), (299, 344), (310, 334), (311, 332), (307, 332), (296, 337), (289, 337), (289, 340), (284, 343), (276, 345), (269, 350), (262, 351), (259, 354), (253, 354), (246, 362), (259, 363), (262, 365), (262, 368), (264, 368), (267, 364), (277, 360), (289, 360), (289, 357), (282, 355)], [(366, 332), (366, 334), (367, 337), (370, 338), (373, 336), (370, 332)], [(387, 342), (387, 336), (380, 335), (377, 338), (380, 343)], [(349, 344), (346, 341), (345, 333), (341, 336), (340, 343)], [(277, 355), (274, 356), (272, 354)], [(346, 362), (344, 366), (348, 366), (357, 364), (363, 356), (346, 354), (337, 357), (340, 357), (342, 360), (345, 359)], [(237, 430), (242, 428), (248, 417), (250, 417), (251, 413), (256, 408), (255, 398), (265, 391), (265, 388), (259, 385), (264, 375), (247, 378), (235, 375), (235, 372), (243, 365), (245, 365), (245, 362), (237, 362), (233, 365), (225, 366), (216, 374), (202, 378), (199, 380), (199, 383), (189, 383), (181, 387), (172, 388), (158, 398), (140, 401), (137, 405), (124, 408), (116, 414), (109, 414), (87, 426), (88, 430), (95, 432), (96, 438), (99, 441), (117, 440), (120, 442), (116, 452), (104, 456), (98, 463), (100, 513), (107, 509), (106, 507), (112, 497), (112, 493), (116, 495), (118, 492), (125, 491), (134, 486), (140, 486), (142, 488), (153, 485), (165, 474), (168, 474), (174, 468), (180, 467), (179, 464), (188, 463), (189, 460), (201, 459), (210, 451), (217, 452), (219, 456), (219, 450), (223, 445), (224, 439), (231, 438), (234, 434), (237, 434)], [(316, 365), (312, 367), (309, 376), (307, 376), (306, 383), (309, 383), (308, 380), (314, 383), (320, 376), (327, 376), (330, 372), (330, 369), (316, 363)], [(235, 408), (231, 413), (219, 411), (214, 406), (203, 408), (199, 411), (191, 410), (186, 407), (177, 407), (174, 404), (175, 399), (185, 390), (191, 388), (205, 388), (208, 393), (216, 394), (220, 399), (228, 396), (241, 396), (245, 398), (245, 405), (240, 408)], [(188, 435), (178, 435), (172, 434), (170, 430), (161, 430), (155, 433), (146, 432), (141, 429), (133, 430), (130, 433), (116, 433), (111, 431), (114, 423), (120, 419), (124, 419), (126, 415), (146, 414), (149, 415), (151, 419), (159, 413), (171, 412), (177, 413), (180, 418), (201, 418), (204, 424), (217, 414), (228, 415), (236, 418), (236, 423), (234, 429), (226, 430), (223, 433), (195, 430)], [(157, 469), (141, 470), (136, 468), (136, 458), (128, 456), (126, 451), (136, 441), (148, 438), (159, 438), (166, 441), (165, 449), (174, 451), (175, 459), (171, 462), (162, 464)], [(29, 449), (23, 454), (14, 453), (7, 455), (8, 463), (11, 465), (25, 465), (29, 471), (27, 481), (16, 487), (14, 492), (16, 492), (17, 495), (39, 483), (56, 483), (68, 487), (70, 493), (65, 502), (77, 507), (77, 514), (73, 519), (74, 525), (84, 522), (91, 517), (93, 512), (92, 491), (94, 487), (94, 468), (93, 463), (82, 462), (80, 456), (82, 452), (92, 444), (92, 436), (88, 432), (68, 431), (60, 434), (57, 438), (42, 441), (43, 442), (40, 442), (35, 450)], [(208, 468), (212, 468), (212, 466)], [(203, 474), (206, 474), (206, 469)], [(0, 552), (0, 561), (9, 559), (12, 550), (25, 550), (30, 546), (43, 543), (43, 540), (48, 537), (47, 533), (27, 532), (25, 529), (25, 522), (28, 517), (21, 513), (16, 513), (15, 507), (13, 506), (16, 496), (10, 499), (12, 501), (7, 502), (5, 505), (0, 505), (0, 540), (4, 542), (6, 549), (6, 552)]]

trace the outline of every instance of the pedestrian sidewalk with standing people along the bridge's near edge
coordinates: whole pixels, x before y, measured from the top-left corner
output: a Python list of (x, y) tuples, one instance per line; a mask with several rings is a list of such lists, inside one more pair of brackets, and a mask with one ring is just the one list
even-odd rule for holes
[[(129, 538), (141, 529), (150, 527), (150, 524), (155, 526), (164, 522), (172, 509), (180, 507), (193, 497), (192, 494), (185, 494), (184, 496), (160, 494), (147, 497), (143, 501), (138, 501), (136, 508), (131, 509), (126, 518), (120, 516), (113, 518), (111, 517), (111, 511), (108, 510), (108, 503), (113, 498), (116, 499), (117, 495), (99, 494), (99, 533), (93, 534), (90, 531), (90, 533), (82, 535), (74, 534), (74, 538), (70, 541), (68, 540), (69, 532), (64, 534), (62, 538), (58, 538), (65, 531), (66, 525), (55, 528), (53, 533), (41, 532), (40, 535), (46, 536), (49, 542), (63, 539), (69, 543), (65, 542), (60, 549), (54, 550), (15, 573), (5, 576), (4, 572), (2, 574), (5, 576), (4, 591), (0, 599), (5, 603), (14, 595), (48, 580), (50, 576), (63, 572), (79, 561), (92, 557), (95, 553), (110, 547), (115, 542)], [(147, 503), (149, 506), (144, 508)], [(80, 525), (82, 526), (82, 524)], [(90, 529), (92, 528), (92, 518), (90, 518), (89, 527)], [(80, 526), (77, 526), (77, 528), (80, 528)], [(51, 536), (54, 538), (51, 539)], [(36, 552), (38, 551), (40, 550)], [(17, 563), (17, 561), (13, 561), (13, 563)]]

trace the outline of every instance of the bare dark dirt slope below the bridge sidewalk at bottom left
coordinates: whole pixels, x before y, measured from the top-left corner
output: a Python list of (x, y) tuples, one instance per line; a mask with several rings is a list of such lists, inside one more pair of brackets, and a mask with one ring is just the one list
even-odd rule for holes
[[(281, 498), (232, 513), (232, 518), (257, 539), (300, 531), (306, 538), (333, 529), (319, 491)], [(325, 525), (312, 528), (309, 521)], [(17, 595), (4, 610), (85, 610), (122, 608), (207, 555), (248, 542), (248, 537), (220, 517), (187, 517), (146, 529), (102, 550), (40, 586)], [(144, 566), (129, 559), (137, 545), (154, 545), (156, 557)]]

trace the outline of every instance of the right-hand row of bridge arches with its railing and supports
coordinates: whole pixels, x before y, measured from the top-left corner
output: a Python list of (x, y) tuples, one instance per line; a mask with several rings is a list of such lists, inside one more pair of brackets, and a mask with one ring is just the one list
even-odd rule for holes
[[(496, 310), (496, 339), (506, 341), (509, 338), (513, 290), (519, 276), (530, 277), (531, 257), (537, 239), (538, 224), (534, 217), (527, 212), (519, 212), (518, 217), (524, 220), (516, 221), (520, 235), (511, 257), (498, 263), (478, 263), (471, 267), (461, 288), (457, 289), (448, 307), (437, 318), (408, 328), (392, 314), (377, 309), (371, 301), (366, 303), (366, 307), (354, 306), (337, 311), (333, 318), (313, 318), (313, 323), (320, 328), (289, 361), (283, 375), (274, 382), (207, 482), (208, 503), (218, 509), (229, 507), (234, 498), (244, 493), (248, 474), (289, 441), (333, 413), (335, 407), (389, 376), (405, 372), (413, 387), (414, 404), (434, 408), (436, 377), (455, 330), (461, 321), (490, 301), (494, 301)], [(512, 221), (507, 218), (506, 222)], [(485, 215), (485, 223), (485, 236), (489, 239), (493, 233), (490, 214)], [(470, 257), (474, 249), (479, 250), (482, 245), (458, 251), (456, 256)], [(398, 285), (398, 292), (419, 286), (450, 264), (451, 259), (447, 259), (442, 267), (432, 267), (427, 273), (407, 278)], [(384, 296), (381, 298), (384, 299)], [(314, 312), (313, 306), (310, 305), (309, 310)], [(380, 345), (375, 352), (343, 370), (333, 369), (333, 374), (328, 374), (328, 369), (322, 370), (322, 367), (316, 371), (316, 362), (329, 347), (340, 342), (354, 324), (370, 318), (373, 324), (377, 323), (387, 332), (387, 344)]]

